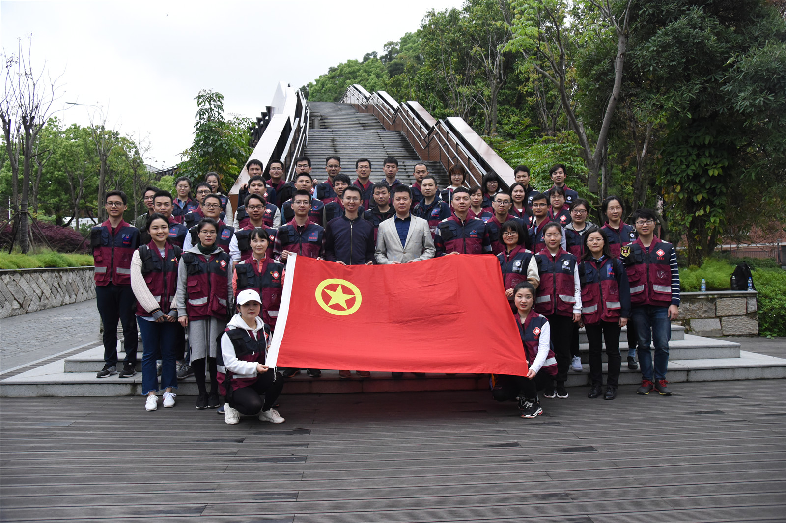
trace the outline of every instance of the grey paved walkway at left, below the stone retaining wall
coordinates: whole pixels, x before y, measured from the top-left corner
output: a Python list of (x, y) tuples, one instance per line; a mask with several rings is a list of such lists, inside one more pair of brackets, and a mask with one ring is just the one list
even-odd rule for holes
[(0, 320), (0, 372), (98, 342), (96, 301), (88, 300)]

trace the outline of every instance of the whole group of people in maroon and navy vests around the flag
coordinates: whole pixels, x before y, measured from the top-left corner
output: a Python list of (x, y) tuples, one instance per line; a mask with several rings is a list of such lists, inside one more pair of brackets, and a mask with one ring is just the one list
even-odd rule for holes
[[(384, 160), (384, 179), (376, 183), (370, 181), (369, 159), (355, 162), (357, 176), (351, 181), (341, 172), (341, 159), (331, 155), (325, 159), (327, 179), (319, 183), (310, 159), (302, 156), (294, 163), (294, 176), (285, 181), (284, 163), (274, 160), (265, 169), (250, 160), (237, 210), (220, 192), (215, 173), (194, 190), (187, 177), (178, 178), (175, 197), (148, 188), (148, 213), (137, 218), (136, 227), (123, 221), (123, 192), (107, 194), (108, 220), (91, 236), (105, 326), (105, 365), (98, 378), (116, 373), (118, 319), (126, 347), (119, 377), (136, 374), (135, 315), (147, 410), (156, 410), (159, 391), (163, 406), (174, 406), (178, 378), (193, 374), (196, 408), (222, 407), (230, 424), (240, 415), (257, 414), (263, 421), (283, 422), (274, 408), (277, 397), (285, 379), (301, 369), (273, 371), (265, 354), (290, 254), (341, 265), (490, 254), (498, 258), (529, 364), (527, 376), (493, 375), (494, 399), (518, 400), (522, 417), (533, 418), (542, 413), (539, 391), (543, 397), (567, 398), (569, 370), (583, 370), (582, 326), (589, 342), (589, 397), (616, 397), (619, 337), (626, 326), (628, 367), (641, 366), (637, 393), (671, 394), (668, 342), (680, 303), (679, 274), (674, 247), (655, 236), (653, 210), (637, 210), (634, 226), (627, 225), (621, 199), (610, 196), (601, 207), (606, 222), (593, 225), (587, 219), (589, 203), (565, 185), (561, 164), (551, 169), (553, 186), (547, 192), (531, 187), (527, 166), (516, 167), (516, 181), (505, 192), (494, 173), (468, 188), (461, 165), (450, 167), (450, 185), (439, 190), (424, 163), (413, 168), (415, 183), (399, 181), (399, 163), (392, 157)], [(312, 378), (321, 375), (319, 369), (307, 372)], [(351, 371), (339, 375), (349, 379)]]

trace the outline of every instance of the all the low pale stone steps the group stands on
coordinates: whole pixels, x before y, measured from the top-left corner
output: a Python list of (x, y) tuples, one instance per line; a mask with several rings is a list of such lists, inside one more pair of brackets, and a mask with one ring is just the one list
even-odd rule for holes
[[(762, 356), (740, 350), (740, 344), (716, 338), (685, 334), (681, 325), (672, 325), (670, 342), (669, 373), (672, 383), (703, 382), (733, 379), (776, 379), (786, 378), (786, 360)], [(638, 371), (630, 371), (625, 364), (627, 353), (626, 337), (620, 338), (620, 352), (623, 353), (621, 385), (641, 382)], [(589, 386), (589, 365), (587, 364), (586, 336), (582, 330), (580, 349), (584, 371), (570, 371), (567, 386)], [(119, 344), (122, 351), (122, 343)], [(67, 397), (67, 396), (135, 396), (141, 394), (141, 342), (139, 344), (139, 371), (133, 378), (119, 379), (116, 375), (97, 379), (96, 372), (104, 364), (102, 346), (87, 349), (83, 353), (33, 368), (21, 374), (0, 381), (2, 397)], [(119, 354), (123, 360), (124, 353)], [(605, 354), (604, 354), (605, 361)], [(605, 372), (605, 364), (604, 364)], [(405, 374), (402, 379), (392, 379), (389, 372), (373, 372), (369, 379), (339, 379), (338, 371), (323, 371), (318, 379), (309, 378), (305, 372), (287, 380), (285, 393), (361, 393), (361, 392), (400, 392), (426, 390), (476, 390), (488, 387), (487, 375), (428, 374), (417, 378)], [(178, 394), (196, 395), (196, 382), (193, 377), (182, 380)]]

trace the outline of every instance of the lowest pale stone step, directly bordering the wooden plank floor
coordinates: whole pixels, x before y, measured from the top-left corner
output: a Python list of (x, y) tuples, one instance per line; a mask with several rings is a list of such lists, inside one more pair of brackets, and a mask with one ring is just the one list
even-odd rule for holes
[[(141, 373), (131, 378), (119, 379), (116, 375), (97, 379), (95, 371), (64, 372), (64, 360), (46, 364), (32, 371), (13, 376), (0, 382), (2, 397), (86, 397), (86, 396), (135, 396), (141, 394)], [(604, 374), (606, 365), (604, 364)], [(740, 357), (710, 360), (670, 360), (667, 379), (671, 383), (725, 381), (736, 379), (786, 379), (786, 360), (740, 351)], [(620, 372), (621, 385), (641, 382), (638, 371), (630, 371), (623, 365)], [(582, 372), (569, 371), (568, 387), (589, 386), (588, 369)], [(488, 388), (488, 376), (458, 374), (427, 374), (418, 378), (405, 374), (402, 379), (391, 378), (388, 372), (373, 372), (368, 379), (339, 379), (338, 371), (323, 371), (318, 379), (305, 373), (288, 379), (285, 394), (326, 394), (361, 392), (400, 392), (420, 390), (483, 390)], [(176, 393), (182, 396), (196, 395), (193, 377), (181, 380)], [(576, 390), (571, 393), (584, 393)], [(189, 400), (190, 402), (191, 400)]]

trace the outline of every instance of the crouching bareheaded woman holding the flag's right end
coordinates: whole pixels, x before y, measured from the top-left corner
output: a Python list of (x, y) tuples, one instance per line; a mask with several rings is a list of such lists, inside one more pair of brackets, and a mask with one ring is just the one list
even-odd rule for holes
[(519, 398), (522, 418), (534, 418), (542, 414), (538, 390), (549, 390), (554, 386), (556, 359), (551, 349), (549, 320), (532, 309), (535, 288), (523, 281), (513, 289), (516, 304), (516, 324), (521, 335), (521, 344), (527, 356), (529, 370), (526, 376), (492, 375), (491, 395), (495, 400), (507, 401)]

